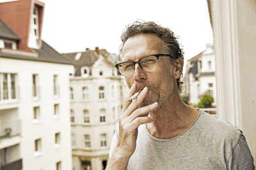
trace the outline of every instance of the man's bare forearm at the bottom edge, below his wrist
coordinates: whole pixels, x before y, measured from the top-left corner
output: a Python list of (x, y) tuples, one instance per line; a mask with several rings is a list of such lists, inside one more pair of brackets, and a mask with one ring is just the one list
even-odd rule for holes
[(106, 170), (125, 170), (127, 169), (127, 164), (129, 162), (129, 157), (125, 157), (122, 154), (113, 152), (111, 155)]

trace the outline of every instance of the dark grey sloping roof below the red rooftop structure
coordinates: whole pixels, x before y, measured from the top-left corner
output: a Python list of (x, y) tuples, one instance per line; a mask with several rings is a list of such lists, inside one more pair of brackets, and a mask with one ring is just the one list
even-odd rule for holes
[(41, 49), (33, 49), (38, 53), (38, 57), (28, 57), (24, 55), (17, 55), (12, 53), (3, 53), (0, 50), (0, 57), (10, 58), (10, 59), (21, 59), (21, 60), (35, 60), (41, 62), (54, 62), (59, 64), (72, 64), (68, 59), (63, 57), (60, 53), (56, 52), (51, 46), (49, 46), (45, 41), (42, 41)]

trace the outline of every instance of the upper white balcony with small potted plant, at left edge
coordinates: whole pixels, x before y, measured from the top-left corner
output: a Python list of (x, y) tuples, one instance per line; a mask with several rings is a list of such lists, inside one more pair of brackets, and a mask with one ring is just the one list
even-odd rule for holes
[(0, 149), (20, 143), (20, 120), (18, 110), (9, 109), (0, 112)]

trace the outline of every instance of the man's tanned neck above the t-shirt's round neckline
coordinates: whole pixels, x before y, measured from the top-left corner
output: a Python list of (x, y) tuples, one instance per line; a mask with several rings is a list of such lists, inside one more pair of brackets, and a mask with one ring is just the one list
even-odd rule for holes
[(150, 113), (154, 122), (147, 124), (152, 136), (160, 139), (170, 139), (186, 131), (198, 117), (199, 111), (183, 103), (180, 96), (173, 94), (168, 101)]

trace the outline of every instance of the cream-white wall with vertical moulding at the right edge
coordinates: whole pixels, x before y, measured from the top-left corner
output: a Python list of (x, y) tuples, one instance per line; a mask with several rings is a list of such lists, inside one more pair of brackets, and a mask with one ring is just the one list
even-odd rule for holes
[(239, 127), (256, 164), (256, 1), (211, 1), (218, 113)]

